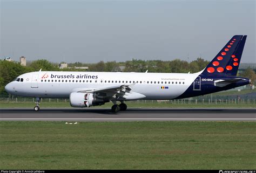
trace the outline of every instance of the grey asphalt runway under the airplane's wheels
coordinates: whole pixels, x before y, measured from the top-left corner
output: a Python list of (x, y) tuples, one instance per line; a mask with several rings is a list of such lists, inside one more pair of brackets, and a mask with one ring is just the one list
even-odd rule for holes
[(256, 121), (256, 108), (0, 108), (1, 121)]

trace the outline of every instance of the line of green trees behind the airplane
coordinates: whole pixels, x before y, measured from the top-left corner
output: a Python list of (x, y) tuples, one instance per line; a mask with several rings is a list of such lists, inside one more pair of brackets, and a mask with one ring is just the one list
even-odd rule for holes
[[(197, 58), (197, 60), (191, 62), (180, 59), (172, 61), (132, 59), (125, 62), (108, 61), (105, 63), (99, 61), (95, 64), (76, 62), (68, 64), (69, 68), (59, 69), (58, 64), (45, 59), (29, 62), (27, 66), (22, 66), (16, 61), (0, 60), (0, 93), (4, 92), (4, 86), (17, 78), (18, 75), (39, 71), (40, 69), (42, 71), (85, 71), (75, 67), (87, 66), (89, 68), (86, 71), (95, 72), (146, 72), (148, 70), (149, 73), (196, 73), (203, 70), (208, 63), (210, 61), (203, 58)], [(256, 75), (251, 68), (247, 68), (240, 76), (250, 78), (253, 82), (256, 79)]]

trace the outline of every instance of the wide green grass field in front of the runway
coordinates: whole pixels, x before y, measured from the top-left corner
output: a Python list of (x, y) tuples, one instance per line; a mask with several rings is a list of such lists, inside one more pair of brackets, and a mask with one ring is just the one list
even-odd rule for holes
[(0, 122), (0, 169), (256, 169), (255, 122)]

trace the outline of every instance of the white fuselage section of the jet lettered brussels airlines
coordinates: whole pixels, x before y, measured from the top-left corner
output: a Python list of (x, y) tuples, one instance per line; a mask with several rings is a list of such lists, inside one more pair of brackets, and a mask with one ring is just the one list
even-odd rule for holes
[(71, 92), (83, 88), (106, 88), (132, 85), (132, 91), (144, 99), (174, 99), (183, 94), (198, 73), (124, 73), (124, 72), (31, 72), (20, 75), (23, 81), (10, 82), (6, 91), (36, 98), (69, 98)]

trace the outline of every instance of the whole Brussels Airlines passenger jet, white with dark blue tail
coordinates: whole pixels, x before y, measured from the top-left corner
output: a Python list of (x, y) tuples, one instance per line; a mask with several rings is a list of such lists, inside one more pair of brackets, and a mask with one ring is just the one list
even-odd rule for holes
[[(36, 98), (70, 99), (72, 107), (91, 107), (113, 102), (112, 112), (126, 110), (124, 101), (191, 98), (244, 86), (237, 77), (247, 36), (233, 36), (204, 70), (198, 73), (63, 72), (38, 71), (19, 75), (5, 91)], [(117, 102), (120, 102), (118, 105)]]

